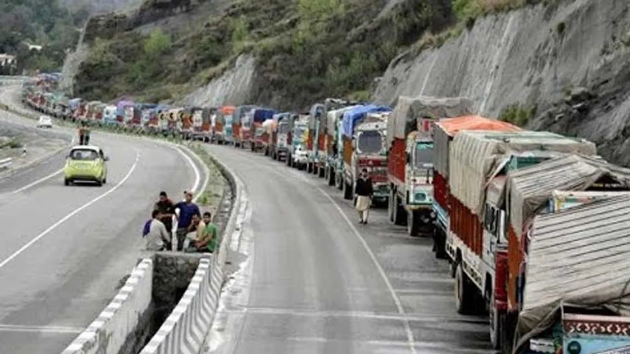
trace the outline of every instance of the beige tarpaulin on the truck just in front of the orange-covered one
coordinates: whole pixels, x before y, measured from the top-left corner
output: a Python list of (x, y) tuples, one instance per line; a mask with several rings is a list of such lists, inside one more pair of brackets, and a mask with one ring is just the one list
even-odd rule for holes
[(473, 214), (481, 215), (493, 169), (512, 155), (536, 151), (594, 155), (597, 149), (588, 140), (550, 132), (461, 132), (450, 144), (450, 192)]

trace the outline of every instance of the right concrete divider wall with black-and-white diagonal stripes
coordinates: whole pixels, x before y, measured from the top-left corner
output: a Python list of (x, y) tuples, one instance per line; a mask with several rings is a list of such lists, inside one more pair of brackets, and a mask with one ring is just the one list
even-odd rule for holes
[(140, 354), (198, 354), (221, 292), (222, 270), (212, 254), (199, 261), (197, 271), (173, 312)]

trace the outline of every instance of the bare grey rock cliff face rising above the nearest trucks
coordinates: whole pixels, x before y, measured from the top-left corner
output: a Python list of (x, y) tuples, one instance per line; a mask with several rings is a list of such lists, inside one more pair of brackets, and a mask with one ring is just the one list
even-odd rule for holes
[(487, 16), (438, 49), (392, 60), (374, 100), (468, 96), (488, 117), (528, 107), (528, 127), (593, 140), (600, 154), (628, 165), (629, 6), (572, 0)]

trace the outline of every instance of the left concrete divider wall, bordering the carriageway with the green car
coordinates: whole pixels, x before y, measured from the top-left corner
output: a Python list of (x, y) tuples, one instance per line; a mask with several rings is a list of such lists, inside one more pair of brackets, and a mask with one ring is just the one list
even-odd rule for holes
[(135, 331), (151, 313), (152, 272), (153, 260), (140, 261), (112, 302), (62, 354), (118, 354), (141, 346)]

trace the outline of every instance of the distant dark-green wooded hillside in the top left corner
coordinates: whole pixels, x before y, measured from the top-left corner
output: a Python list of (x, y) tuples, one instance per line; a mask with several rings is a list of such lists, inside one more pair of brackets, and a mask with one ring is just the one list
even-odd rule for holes
[[(66, 50), (76, 45), (79, 26), (87, 17), (87, 9), (70, 11), (56, 0), (0, 2), (0, 53), (17, 55), (18, 62), (2, 74), (60, 69)], [(42, 45), (42, 50), (29, 50), (28, 44)]]

